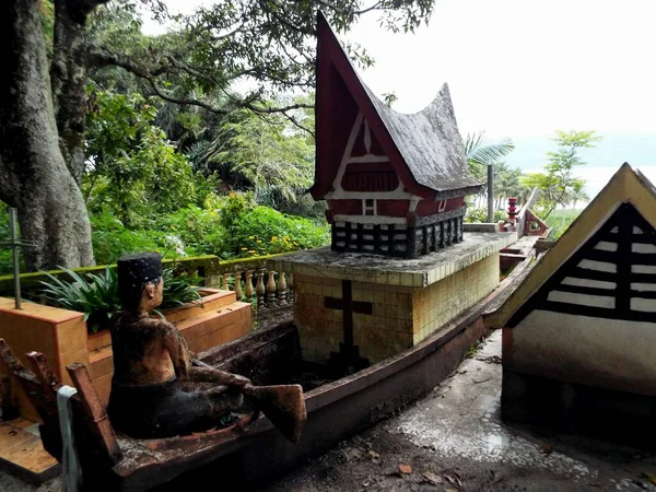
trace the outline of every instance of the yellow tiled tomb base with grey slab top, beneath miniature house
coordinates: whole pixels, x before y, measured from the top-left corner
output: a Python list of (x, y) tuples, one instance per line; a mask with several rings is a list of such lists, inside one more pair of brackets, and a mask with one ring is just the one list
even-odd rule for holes
[[(419, 259), (347, 254), (328, 248), (286, 255), (278, 271), (294, 274), (294, 321), (303, 359), (326, 363), (350, 337), (374, 364), (398, 354), (471, 307), (499, 285), (499, 250), (514, 233), (466, 234), (465, 241)], [(342, 347), (343, 350), (343, 347)]]

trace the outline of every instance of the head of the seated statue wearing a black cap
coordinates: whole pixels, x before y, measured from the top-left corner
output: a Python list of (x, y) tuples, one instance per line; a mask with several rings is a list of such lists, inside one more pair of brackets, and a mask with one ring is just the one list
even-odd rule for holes
[(157, 253), (122, 256), (116, 262), (118, 296), (124, 309), (150, 311), (162, 304), (162, 257)]

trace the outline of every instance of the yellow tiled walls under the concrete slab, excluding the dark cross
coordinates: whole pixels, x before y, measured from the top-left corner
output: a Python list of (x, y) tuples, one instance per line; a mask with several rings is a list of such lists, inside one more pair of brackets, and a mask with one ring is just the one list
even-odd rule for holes
[[(374, 364), (419, 343), (499, 285), (493, 254), (427, 288), (352, 282), (353, 301), (371, 302), (372, 315), (353, 314), (353, 341)], [(303, 359), (326, 362), (343, 340), (341, 309), (324, 297), (342, 297), (341, 280), (294, 274), (294, 318)]]

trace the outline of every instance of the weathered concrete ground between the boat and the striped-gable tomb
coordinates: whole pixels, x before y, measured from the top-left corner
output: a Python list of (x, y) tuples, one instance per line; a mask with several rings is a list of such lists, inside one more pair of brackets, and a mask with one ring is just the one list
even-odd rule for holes
[[(260, 490), (656, 491), (654, 454), (504, 425), (500, 355), (495, 331), (429, 396)], [(3, 492), (57, 490), (57, 481), (37, 489), (0, 473)]]

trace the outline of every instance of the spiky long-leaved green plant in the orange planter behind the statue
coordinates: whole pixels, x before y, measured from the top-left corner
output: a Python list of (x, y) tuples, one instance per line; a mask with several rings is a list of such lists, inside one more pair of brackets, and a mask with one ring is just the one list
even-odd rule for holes
[[(116, 270), (106, 267), (104, 273), (85, 273), (84, 277), (68, 268), (60, 267), (71, 280), (59, 279), (42, 271), (48, 281), (42, 281), (48, 305), (84, 313), (84, 321), (90, 332), (95, 333), (109, 328), (114, 313), (121, 309), (118, 298), (118, 277)], [(198, 274), (179, 273), (165, 269), (163, 274), (164, 292), (161, 309), (181, 307), (189, 303), (202, 304), (200, 296), (202, 278)], [(157, 312), (161, 314), (160, 312)]]

